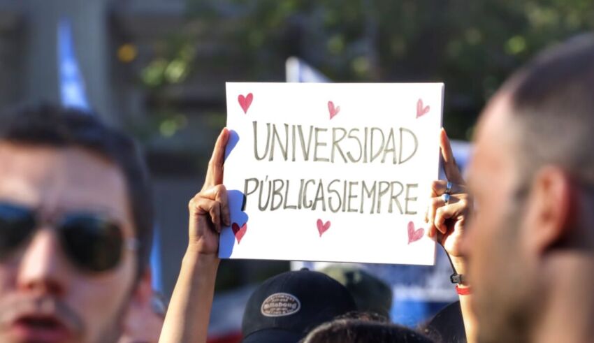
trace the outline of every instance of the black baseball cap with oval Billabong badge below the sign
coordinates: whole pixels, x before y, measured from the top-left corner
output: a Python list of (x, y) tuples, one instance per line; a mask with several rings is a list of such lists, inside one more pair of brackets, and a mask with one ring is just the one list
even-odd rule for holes
[(244, 343), (298, 342), (321, 323), (355, 311), (349, 291), (321, 272), (284, 272), (266, 280), (247, 300)]

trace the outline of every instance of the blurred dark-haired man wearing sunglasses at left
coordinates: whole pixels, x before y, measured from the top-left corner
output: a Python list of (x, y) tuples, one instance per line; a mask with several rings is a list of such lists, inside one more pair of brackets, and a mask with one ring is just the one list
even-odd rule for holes
[(75, 110), (1, 118), (0, 342), (116, 342), (150, 296), (138, 149)]

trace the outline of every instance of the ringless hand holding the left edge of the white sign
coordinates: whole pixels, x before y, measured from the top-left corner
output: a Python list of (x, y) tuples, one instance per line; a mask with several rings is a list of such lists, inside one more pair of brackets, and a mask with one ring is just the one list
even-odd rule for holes
[(208, 163), (202, 190), (189, 202), (189, 248), (217, 255), (222, 225), (229, 226), (229, 204), (223, 186), (223, 163), (229, 131), (223, 129)]

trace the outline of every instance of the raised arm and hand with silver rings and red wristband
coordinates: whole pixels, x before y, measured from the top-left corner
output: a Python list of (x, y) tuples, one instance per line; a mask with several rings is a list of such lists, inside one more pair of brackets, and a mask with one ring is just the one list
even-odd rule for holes
[[(444, 160), (444, 172), (451, 188), (447, 191), (447, 181), (435, 181), (431, 190), (431, 205), (427, 211), (426, 221), (430, 224), (428, 235), (437, 235), (437, 242), (447, 251), (451, 262), (459, 275), (466, 274), (466, 261), (461, 253), (462, 236), (466, 221), (472, 212), (472, 199), (468, 195), (465, 181), (456, 166), (454, 154), (446, 132), (442, 129), (440, 148)], [(449, 193), (449, 199), (444, 194)], [(447, 203), (446, 203), (446, 200)], [(463, 280), (458, 284), (460, 307), (464, 319), (464, 328), (468, 342), (476, 342), (477, 321), (472, 312), (470, 302), (470, 286)]]

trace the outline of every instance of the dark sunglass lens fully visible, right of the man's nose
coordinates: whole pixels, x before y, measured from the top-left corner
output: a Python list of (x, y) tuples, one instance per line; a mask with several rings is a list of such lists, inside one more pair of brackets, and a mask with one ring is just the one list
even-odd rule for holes
[(101, 217), (70, 215), (60, 226), (64, 250), (82, 269), (103, 272), (122, 258), (122, 231)]

